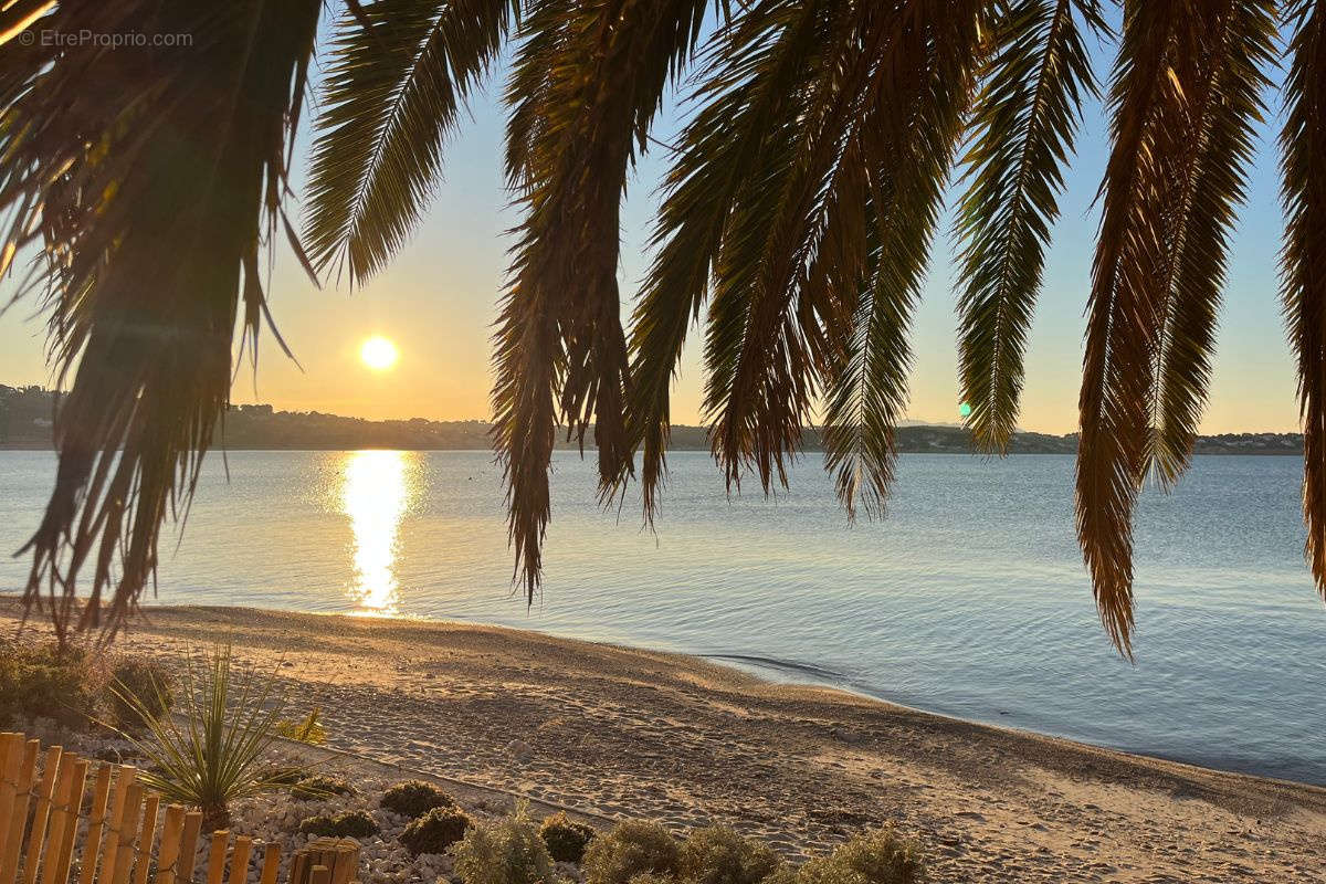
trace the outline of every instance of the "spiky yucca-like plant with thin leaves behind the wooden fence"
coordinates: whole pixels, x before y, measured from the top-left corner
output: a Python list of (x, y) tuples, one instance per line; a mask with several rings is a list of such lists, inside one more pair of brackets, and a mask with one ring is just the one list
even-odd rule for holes
[[(142, 736), (123, 733), (151, 762), (139, 779), (172, 802), (203, 811), (203, 831), (229, 824), (231, 802), (282, 789), (263, 758), (272, 745), (285, 694), (274, 673), (235, 672), (229, 645), (186, 652), (178, 667), (183, 724), (152, 718), (147, 701), (113, 688), (147, 721)], [(159, 700), (159, 698), (158, 698)]]

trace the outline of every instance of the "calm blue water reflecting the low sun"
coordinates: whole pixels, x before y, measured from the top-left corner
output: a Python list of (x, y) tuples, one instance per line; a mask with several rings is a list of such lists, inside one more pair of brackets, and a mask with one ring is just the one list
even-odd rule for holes
[[(487, 452), (210, 457), (160, 602), (501, 623), (713, 655), (777, 677), (1203, 765), (1326, 783), (1326, 612), (1302, 563), (1301, 461), (1199, 457), (1138, 518), (1136, 665), (1098, 624), (1073, 460), (906, 455), (890, 517), (847, 525), (808, 459), (728, 500), (672, 457), (658, 533), (594, 506), (558, 453), (545, 592), (511, 595)], [(44, 452), (0, 452), (0, 547), (37, 524)], [(16, 590), (23, 561), (0, 562)]]

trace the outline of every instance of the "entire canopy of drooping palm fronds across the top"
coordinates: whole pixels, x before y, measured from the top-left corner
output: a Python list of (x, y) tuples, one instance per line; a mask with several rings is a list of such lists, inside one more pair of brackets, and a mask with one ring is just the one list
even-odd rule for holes
[[(1102, 622), (1130, 652), (1132, 509), (1148, 476), (1168, 486), (1191, 457), (1228, 239), (1280, 60), (1284, 309), (1307, 557), (1326, 587), (1326, 0), (1120, 5), (1077, 527)], [(245, 335), (265, 313), (260, 250), (280, 229), (318, 276), (358, 284), (385, 266), (508, 44), (507, 176), (522, 220), (495, 335), (495, 445), (530, 598), (557, 427), (597, 445), (606, 500), (638, 469), (652, 517), (672, 376), (701, 314), (704, 417), (728, 486), (747, 473), (766, 492), (784, 481), (822, 414), (843, 504), (878, 513), (911, 314), (955, 174), (960, 387), (976, 447), (1005, 451), (1067, 158), (1097, 91), (1087, 46), (1114, 36), (1102, 0), (346, 0), (325, 49), (305, 252), (282, 195), (318, 9), (0, 9), (0, 265), (40, 249), (29, 282), (45, 292), (58, 364), (76, 372), (27, 594), (49, 602), (61, 632), (85, 570), (91, 604), (76, 624), (109, 604), (111, 630), (151, 575), (159, 525), (212, 443), (240, 307)], [(194, 42), (23, 40), (38, 29)], [(682, 82), (692, 113), (626, 327), (621, 200)]]

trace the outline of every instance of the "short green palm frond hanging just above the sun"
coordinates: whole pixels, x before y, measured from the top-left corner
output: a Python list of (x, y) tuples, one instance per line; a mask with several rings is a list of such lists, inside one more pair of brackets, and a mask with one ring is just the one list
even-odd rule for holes
[(514, 0), (378, 0), (332, 41), (305, 239), (363, 282), (404, 244), (442, 148), (501, 48)]

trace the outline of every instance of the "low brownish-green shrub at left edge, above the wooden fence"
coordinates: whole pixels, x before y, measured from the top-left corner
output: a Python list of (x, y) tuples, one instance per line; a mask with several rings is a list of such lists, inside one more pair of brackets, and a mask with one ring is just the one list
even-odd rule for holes
[(101, 683), (81, 647), (0, 640), (0, 717), (8, 713), (86, 728), (97, 720)]

